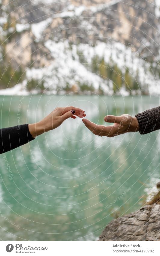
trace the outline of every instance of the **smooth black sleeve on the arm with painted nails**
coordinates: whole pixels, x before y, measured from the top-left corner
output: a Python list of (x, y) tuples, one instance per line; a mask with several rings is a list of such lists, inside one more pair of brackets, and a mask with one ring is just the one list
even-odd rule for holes
[(29, 132), (28, 124), (2, 128), (0, 129), (0, 154), (34, 139)]

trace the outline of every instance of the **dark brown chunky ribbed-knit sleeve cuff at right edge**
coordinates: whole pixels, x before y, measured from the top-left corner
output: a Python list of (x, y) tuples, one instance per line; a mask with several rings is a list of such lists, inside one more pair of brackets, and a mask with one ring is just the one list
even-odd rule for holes
[(160, 129), (160, 106), (148, 109), (135, 115), (140, 126), (140, 134), (146, 134)]

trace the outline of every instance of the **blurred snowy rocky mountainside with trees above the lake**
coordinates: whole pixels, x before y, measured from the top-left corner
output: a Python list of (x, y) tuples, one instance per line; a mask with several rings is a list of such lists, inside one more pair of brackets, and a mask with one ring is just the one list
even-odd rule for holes
[(0, 8), (1, 88), (159, 93), (155, 1), (5, 0)]

